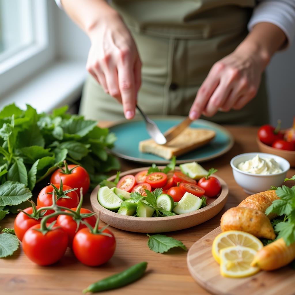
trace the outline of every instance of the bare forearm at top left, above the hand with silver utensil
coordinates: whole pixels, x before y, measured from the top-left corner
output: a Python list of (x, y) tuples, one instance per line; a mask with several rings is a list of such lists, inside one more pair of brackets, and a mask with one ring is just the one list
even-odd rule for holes
[(62, 0), (62, 5), (69, 17), (88, 35), (103, 17), (118, 15), (105, 0)]

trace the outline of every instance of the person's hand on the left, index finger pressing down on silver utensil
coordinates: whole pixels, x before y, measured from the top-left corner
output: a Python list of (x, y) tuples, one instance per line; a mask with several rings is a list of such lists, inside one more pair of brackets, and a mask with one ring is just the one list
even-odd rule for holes
[(123, 104), (126, 119), (132, 119), (141, 85), (141, 61), (129, 30), (114, 13), (100, 19), (89, 37), (87, 71), (106, 93)]

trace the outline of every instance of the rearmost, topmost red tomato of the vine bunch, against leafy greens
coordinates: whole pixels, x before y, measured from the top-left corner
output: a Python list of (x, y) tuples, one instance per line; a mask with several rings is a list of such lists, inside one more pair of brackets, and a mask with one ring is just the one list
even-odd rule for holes
[(50, 177), (50, 183), (60, 183), (61, 178), (64, 185), (70, 186), (73, 189), (78, 188), (78, 196), (80, 196), (80, 188), (83, 189), (83, 194), (85, 195), (90, 186), (90, 178), (87, 171), (83, 167), (77, 165), (66, 164), (66, 167), (68, 169), (63, 168), (64, 170), (62, 170), (59, 168), (55, 170)]

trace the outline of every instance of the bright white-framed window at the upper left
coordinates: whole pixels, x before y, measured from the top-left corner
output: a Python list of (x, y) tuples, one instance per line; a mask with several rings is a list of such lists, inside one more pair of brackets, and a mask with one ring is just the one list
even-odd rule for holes
[(53, 60), (52, 2), (0, 0), (0, 96)]

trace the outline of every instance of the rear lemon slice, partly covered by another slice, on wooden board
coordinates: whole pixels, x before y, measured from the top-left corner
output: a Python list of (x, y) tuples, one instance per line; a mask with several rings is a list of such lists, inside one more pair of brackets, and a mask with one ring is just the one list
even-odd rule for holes
[(219, 263), (219, 251), (232, 246), (244, 246), (258, 251), (263, 247), (263, 244), (257, 237), (248, 234), (248, 232), (239, 230), (222, 232), (213, 241), (212, 255), (214, 259)]

